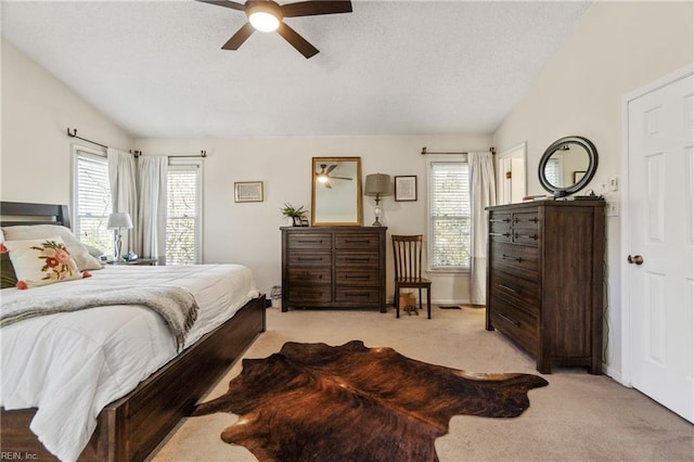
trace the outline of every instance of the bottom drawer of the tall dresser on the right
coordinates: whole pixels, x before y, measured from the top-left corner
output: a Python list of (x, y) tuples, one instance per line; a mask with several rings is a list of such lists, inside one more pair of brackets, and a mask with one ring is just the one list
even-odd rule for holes
[(537, 355), (538, 320), (498, 297), (490, 297), (491, 322), (494, 328), (517, 342), (525, 350)]

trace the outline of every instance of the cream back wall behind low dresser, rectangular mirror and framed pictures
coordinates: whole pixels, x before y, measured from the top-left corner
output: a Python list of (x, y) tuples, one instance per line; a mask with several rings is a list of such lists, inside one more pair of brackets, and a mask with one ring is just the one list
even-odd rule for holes
[[(362, 181), (369, 174), (416, 175), (419, 200), (382, 201), (388, 233), (426, 235), (426, 178), (423, 146), (429, 151), (486, 151), (491, 136), (324, 137), (269, 139), (137, 140), (144, 155), (182, 155), (207, 151), (204, 161), (204, 262), (241, 262), (250, 267), (261, 291), (282, 282), (280, 207), (311, 206), (311, 157), (361, 157)], [(234, 203), (234, 181), (262, 181), (262, 203)], [(373, 222), (374, 203), (363, 197), (363, 223)], [(387, 243), (388, 298), (393, 297), (393, 256)], [(433, 277), (432, 298), (468, 300), (466, 277)]]

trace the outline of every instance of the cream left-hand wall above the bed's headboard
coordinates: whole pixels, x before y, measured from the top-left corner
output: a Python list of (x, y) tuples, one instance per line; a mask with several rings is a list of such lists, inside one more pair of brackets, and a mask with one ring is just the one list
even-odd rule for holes
[(133, 143), (126, 131), (2, 40), (3, 201), (70, 204), (70, 145), (77, 140), (67, 137), (68, 127), (106, 145), (127, 150)]

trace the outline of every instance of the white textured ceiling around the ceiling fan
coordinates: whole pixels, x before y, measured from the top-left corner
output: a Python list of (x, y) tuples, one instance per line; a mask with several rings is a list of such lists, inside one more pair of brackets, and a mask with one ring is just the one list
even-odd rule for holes
[[(240, 0), (242, 2), (243, 0)], [(286, 3), (280, 1), (280, 3)], [(136, 138), (492, 132), (589, 2), (354, 1), (220, 47), (196, 1), (2, 1), (2, 36)]]

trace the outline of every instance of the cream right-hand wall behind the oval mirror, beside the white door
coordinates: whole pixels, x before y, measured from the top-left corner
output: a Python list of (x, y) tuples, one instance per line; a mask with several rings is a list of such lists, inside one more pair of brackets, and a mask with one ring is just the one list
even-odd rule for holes
[[(499, 151), (527, 141), (528, 194), (543, 194), (540, 156), (557, 138), (577, 134), (596, 146), (597, 174), (588, 185), (603, 192), (621, 174), (622, 97), (694, 61), (692, 2), (595, 2), (574, 36), (494, 133)], [(612, 193), (621, 201), (621, 192)], [(629, 204), (621, 203), (621, 208)], [(607, 219), (607, 373), (621, 371), (621, 230)]]

